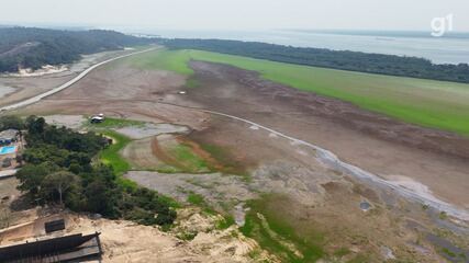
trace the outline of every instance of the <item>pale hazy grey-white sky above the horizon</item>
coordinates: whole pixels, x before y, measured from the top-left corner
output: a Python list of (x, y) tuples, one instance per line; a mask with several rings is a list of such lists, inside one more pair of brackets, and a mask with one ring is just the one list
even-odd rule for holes
[(469, 0), (0, 0), (0, 23), (170, 30), (429, 31), (450, 13), (469, 31)]

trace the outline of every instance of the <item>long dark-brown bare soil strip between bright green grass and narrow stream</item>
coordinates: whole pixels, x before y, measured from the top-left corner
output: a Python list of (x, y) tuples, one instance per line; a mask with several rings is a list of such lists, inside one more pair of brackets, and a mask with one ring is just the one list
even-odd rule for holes
[(412, 178), (443, 199), (469, 207), (469, 139), (265, 81), (255, 72), (200, 61), (191, 66), (199, 82), (187, 95), (191, 101), (311, 141), (383, 178)]

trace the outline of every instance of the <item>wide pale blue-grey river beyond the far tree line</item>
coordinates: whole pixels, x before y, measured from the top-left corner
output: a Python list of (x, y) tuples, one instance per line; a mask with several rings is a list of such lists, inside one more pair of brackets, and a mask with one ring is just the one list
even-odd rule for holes
[(399, 34), (353, 34), (298, 31), (221, 32), (152, 31), (163, 37), (256, 41), (298, 47), (319, 47), (399, 56), (423, 57), (434, 64), (469, 64), (469, 37), (432, 37)]

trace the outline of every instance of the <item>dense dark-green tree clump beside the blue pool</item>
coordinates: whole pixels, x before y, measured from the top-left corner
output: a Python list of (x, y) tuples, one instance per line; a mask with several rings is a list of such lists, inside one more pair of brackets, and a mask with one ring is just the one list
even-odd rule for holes
[(2, 128), (23, 128), (25, 164), (18, 171), (19, 190), (41, 205), (65, 206), (143, 225), (170, 225), (176, 211), (157, 192), (120, 183), (111, 167), (97, 156), (109, 144), (94, 133), (80, 134), (30, 116), (0, 118)]

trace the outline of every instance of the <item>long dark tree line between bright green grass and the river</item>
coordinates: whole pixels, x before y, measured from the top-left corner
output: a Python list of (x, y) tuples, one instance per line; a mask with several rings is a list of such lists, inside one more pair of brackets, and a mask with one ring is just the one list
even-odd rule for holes
[(279, 62), (469, 83), (469, 65), (435, 65), (431, 60), (360, 52), (292, 47), (258, 42), (166, 39), (170, 49), (199, 49)]

